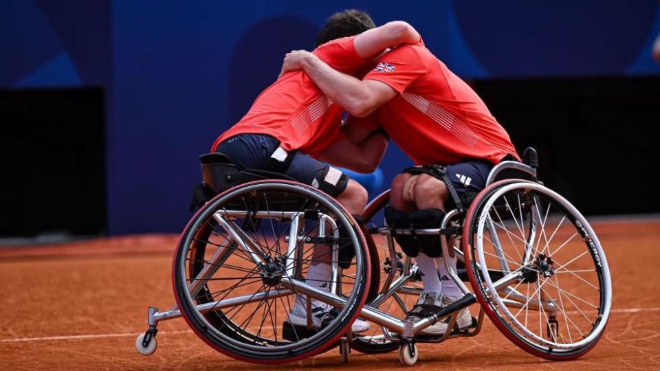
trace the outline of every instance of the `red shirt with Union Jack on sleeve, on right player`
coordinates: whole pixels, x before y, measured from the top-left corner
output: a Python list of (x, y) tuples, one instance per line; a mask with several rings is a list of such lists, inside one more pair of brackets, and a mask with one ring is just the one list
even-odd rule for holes
[(509, 154), (520, 160), (481, 98), (423, 42), (388, 52), (364, 79), (384, 82), (399, 95), (375, 115), (351, 118), (351, 123), (370, 131), (382, 125), (416, 165), (456, 164), (463, 159), (496, 164)]

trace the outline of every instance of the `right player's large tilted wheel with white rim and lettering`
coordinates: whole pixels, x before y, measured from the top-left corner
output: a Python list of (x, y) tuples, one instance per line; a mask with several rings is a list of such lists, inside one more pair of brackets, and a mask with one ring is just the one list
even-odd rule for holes
[(538, 357), (581, 357), (602, 337), (612, 288), (597, 236), (569, 201), (527, 181), (485, 188), (463, 228), (478, 301), (514, 344)]

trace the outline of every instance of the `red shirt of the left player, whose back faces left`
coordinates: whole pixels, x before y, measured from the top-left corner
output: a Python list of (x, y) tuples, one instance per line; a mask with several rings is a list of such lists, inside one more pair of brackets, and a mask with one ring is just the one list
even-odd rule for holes
[[(329, 41), (313, 53), (334, 69), (353, 74), (369, 63), (355, 51), (353, 38), (355, 36)], [(303, 150), (315, 156), (343, 137), (340, 133), (343, 111), (304, 71), (292, 71), (262, 91), (250, 111), (220, 135), (211, 150), (234, 135), (265, 134), (278, 139), (285, 150)]]

